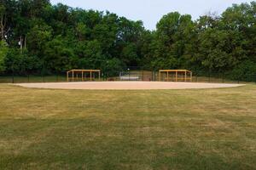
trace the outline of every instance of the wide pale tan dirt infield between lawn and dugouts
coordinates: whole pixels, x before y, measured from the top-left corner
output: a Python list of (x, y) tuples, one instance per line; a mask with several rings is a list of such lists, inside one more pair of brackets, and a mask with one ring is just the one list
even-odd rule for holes
[(196, 82), (50, 82), (50, 83), (20, 83), (25, 88), (53, 88), (53, 89), (194, 89), (194, 88), (233, 88), (243, 84), (225, 83), (196, 83)]

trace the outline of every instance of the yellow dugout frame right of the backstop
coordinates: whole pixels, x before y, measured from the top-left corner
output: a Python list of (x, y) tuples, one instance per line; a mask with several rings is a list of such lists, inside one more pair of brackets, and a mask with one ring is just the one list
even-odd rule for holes
[[(166, 73), (166, 81), (170, 82), (172, 80), (172, 77), (169, 77), (169, 73), (175, 73), (175, 82), (178, 82), (179, 80), (183, 80), (183, 82), (192, 82), (193, 80), (193, 73), (192, 71), (188, 70), (160, 70), (159, 71), (159, 82), (161, 82), (161, 75), (162, 73)], [(183, 78), (178, 78), (178, 74), (183, 73)], [(189, 77), (188, 77), (189, 76)]]

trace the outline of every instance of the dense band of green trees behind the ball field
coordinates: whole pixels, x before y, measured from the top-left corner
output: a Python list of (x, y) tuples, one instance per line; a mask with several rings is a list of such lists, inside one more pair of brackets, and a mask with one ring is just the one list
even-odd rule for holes
[[(19, 74), (127, 66), (190, 69), (198, 74), (255, 74), (256, 3), (192, 20), (166, 14), (155, 31), (117, 14), (70, 8), (49, 0), (1, 0), (0, 71)], [(8, 45), (6, 45), (6, 42)]]

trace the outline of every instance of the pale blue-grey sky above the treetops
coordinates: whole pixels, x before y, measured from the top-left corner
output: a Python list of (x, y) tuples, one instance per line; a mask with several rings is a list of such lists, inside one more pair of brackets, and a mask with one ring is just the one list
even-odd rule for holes
[[(253, 0), (251, 0), (253, 1)], [(51, 3), (64, 3), (71, 7), (96, 9), (125, 16), (130, 20), (143, 20), (144, 26), (154, 30), (164, 14), (178, 11), (191, 14), (193, 20), (207, 12), (221, 14), (232, 3), (249, 3), (247, 0), (51, 0)]]

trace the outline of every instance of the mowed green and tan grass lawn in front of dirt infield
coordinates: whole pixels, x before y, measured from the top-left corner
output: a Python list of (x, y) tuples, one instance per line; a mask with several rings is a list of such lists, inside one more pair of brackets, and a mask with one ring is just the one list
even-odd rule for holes
[(256, 169), (256, 85), (83, 91), (1, 84), (0, 169)]

